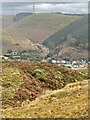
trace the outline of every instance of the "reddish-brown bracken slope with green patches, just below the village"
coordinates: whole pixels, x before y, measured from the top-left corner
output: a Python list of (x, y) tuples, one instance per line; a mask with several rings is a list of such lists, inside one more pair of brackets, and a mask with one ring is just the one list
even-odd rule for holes
[(48, 63), (3, 63), (2, 68), (3, 108), (21, 106), (23, 101), (35, 100), (46, 90), (61, 89), (88, 78), (86, 74)]

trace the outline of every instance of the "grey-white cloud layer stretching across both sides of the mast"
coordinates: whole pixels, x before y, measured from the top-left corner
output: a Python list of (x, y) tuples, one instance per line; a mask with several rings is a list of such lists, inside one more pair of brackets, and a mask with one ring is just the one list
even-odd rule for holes
[[(33, 0), (35, 1), (35, 0)], [(40, 1), (40, 0), (39, 0)], [(8, 9), (8, 8), (18, 8), (18, 9), (29, 9), (32, 11), (32, 5), (33, 3), (27, 3), (27, 2), (5, 2), (2, 4), (2, 8)], [(54, 12), (54, 11), (60, 11), (63, 13), (87, 13), (88, 11), (88, 3), (41, 3), (41, 4), (35, 4), (35, 12)]]

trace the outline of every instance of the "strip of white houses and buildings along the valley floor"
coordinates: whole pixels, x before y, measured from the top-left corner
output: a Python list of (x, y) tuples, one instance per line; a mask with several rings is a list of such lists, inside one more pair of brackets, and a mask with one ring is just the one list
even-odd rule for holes
[(51, 64), (56, 64), (58, 66), (63, 66), (66, 68), (84, 68), (90, 64), (90, 61), (87, 60), (64, 60), (64, 59), (54, 59), (54, 58), (33, 58), (30, 57), (21, 57), (17, 52), (7, 53), (4, 55), (0, 55), (0, 62), (32, 62), (32, 61), (40, 61), (40, 62), (48, 62)]

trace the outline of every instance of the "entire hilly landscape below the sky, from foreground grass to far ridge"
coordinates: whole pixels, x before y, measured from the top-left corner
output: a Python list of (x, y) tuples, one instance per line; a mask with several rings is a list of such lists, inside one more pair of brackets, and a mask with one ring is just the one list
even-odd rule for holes
[(88, 119), (87, 20), (62, 13), (2, 15), (2, 118)]

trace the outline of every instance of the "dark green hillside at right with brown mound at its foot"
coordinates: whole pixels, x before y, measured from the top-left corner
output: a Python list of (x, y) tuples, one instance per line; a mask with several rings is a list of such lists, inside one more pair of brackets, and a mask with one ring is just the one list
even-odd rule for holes
[(48, 37), (47, 46), (53, 57), (88, 58), (88, 17), (84, 16)]

